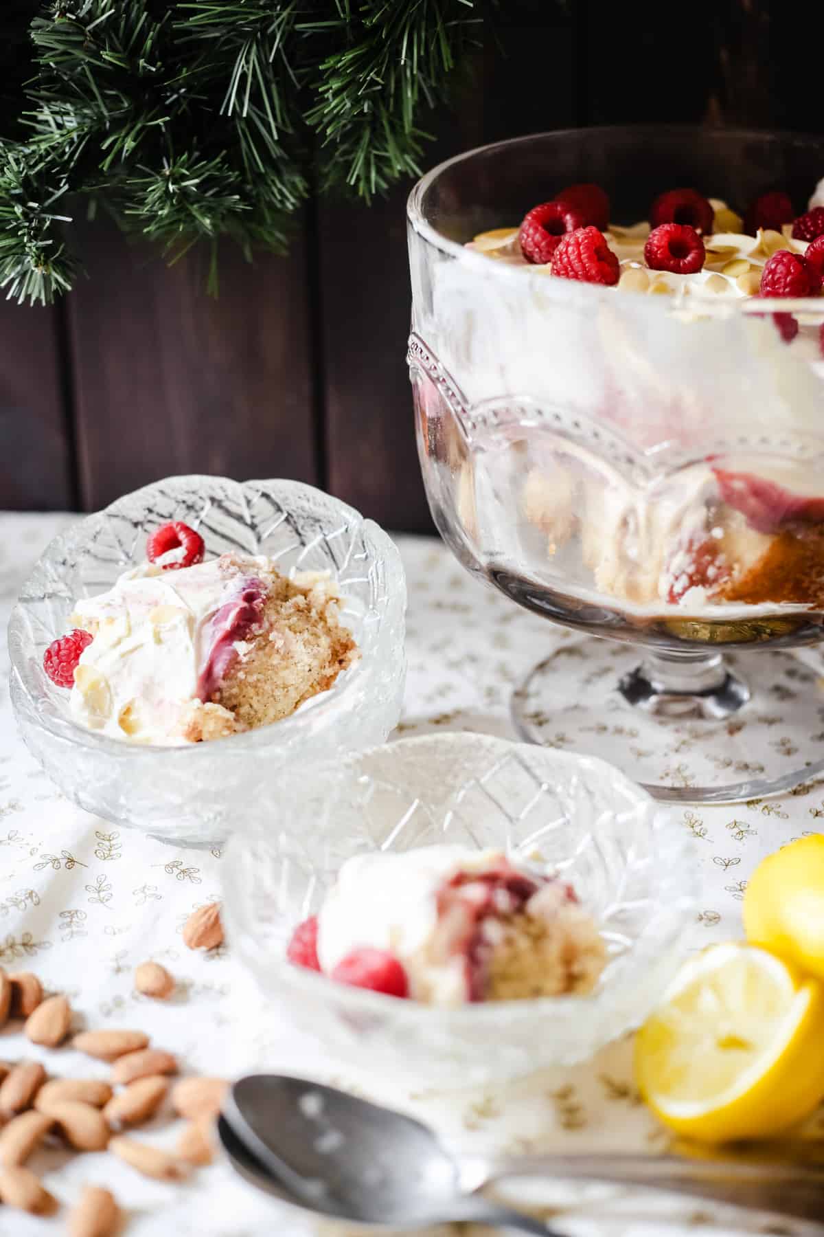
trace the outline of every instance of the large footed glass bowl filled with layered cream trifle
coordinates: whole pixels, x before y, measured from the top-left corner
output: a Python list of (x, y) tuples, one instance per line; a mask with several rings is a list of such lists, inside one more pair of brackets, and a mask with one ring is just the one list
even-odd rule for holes
[[(824, 137), (586, 129), (471, 151), (409, 199), (435, 522), (469, 571), (583, 633), (547, 640), (515, 726), (660, 798), (733, 802), (824, 769), (815, 654), (796, 652), (824, 621), (824, 298), (812, 277), (759, 294), (777, 251), (812, 256), (789, 223), (733, 213), (781, 190), (801, 215), (823, 176)], [(589, 183), (610, 199), (610, 286), (519, 245), (532, 207)], [(687, 278), (642, 259), (650, 204), (678, 187), (713, 208)]]

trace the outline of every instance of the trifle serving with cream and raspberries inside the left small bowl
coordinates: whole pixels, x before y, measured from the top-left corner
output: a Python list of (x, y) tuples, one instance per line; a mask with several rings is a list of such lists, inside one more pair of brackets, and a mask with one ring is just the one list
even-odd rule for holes
[[(203, 547), (182, 527), (180, 534), (174, 526), (175, 544), (196, 559)], [(153, 541), (158, 559), (175, 548), (169, 538)], [(73, 682), (63, 682), (69, 710), (90, 730), (138, 743), (268, 725), (327, 690), (355, 659), (338, 601), (327, 579), (288, 579), (264, 557), (133, 568), (106, 593), (75, 602), (72, 622), (84, 647)]]

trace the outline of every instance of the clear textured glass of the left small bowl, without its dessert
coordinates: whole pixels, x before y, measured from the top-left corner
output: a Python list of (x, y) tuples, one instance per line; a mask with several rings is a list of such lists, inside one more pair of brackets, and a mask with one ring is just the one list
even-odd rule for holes
[[(247, 734), (174, 747), (137, 745), (79, 725), (69, 693), (43, 672), (43, 651), (78, 599), (110, 588), (145, 558), (146, 538), (179, 520), (205, 557), (264, 554), (284, 574), (327, 571), (359, 658), (329, 691)], [(283, 766), (306, 766), (382, 742), (403, 694), (404, 571), (398, 550), (352, 507), (296, 481), (178, 476), (119, 499), (57, 537), (23, 586), (9, 625), (11, 698), (30, 751), (79, 807), (188, 845), (237, 829)]]

